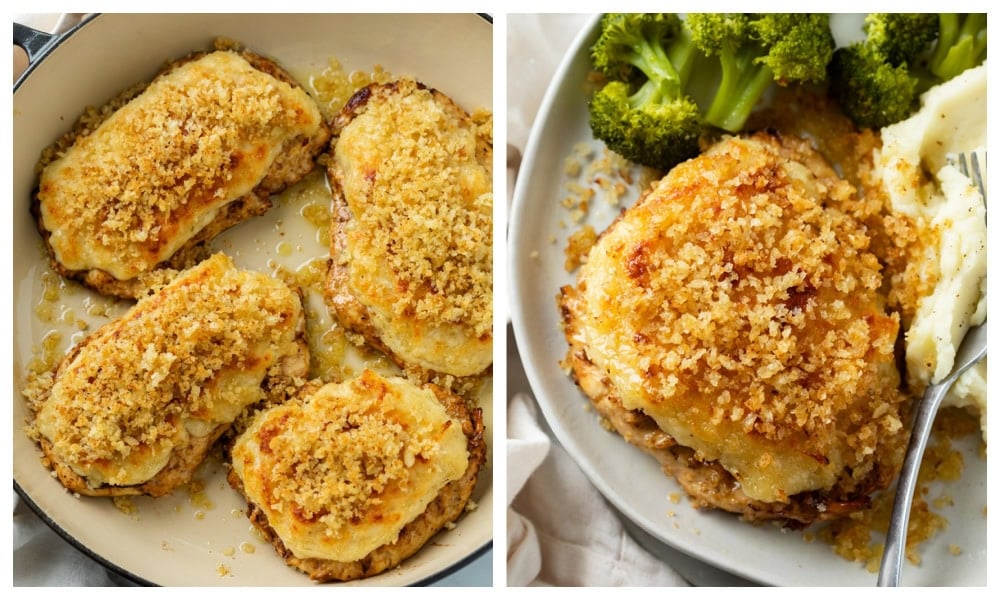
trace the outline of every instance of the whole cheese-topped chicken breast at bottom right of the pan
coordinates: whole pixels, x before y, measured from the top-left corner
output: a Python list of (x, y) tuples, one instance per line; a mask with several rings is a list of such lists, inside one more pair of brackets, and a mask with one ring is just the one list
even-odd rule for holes
[(317, 581), (392, 568), (459, 519), (486, 460), (481, 409), (365, 370), (259, 411), (229, 482), (278, 554)]

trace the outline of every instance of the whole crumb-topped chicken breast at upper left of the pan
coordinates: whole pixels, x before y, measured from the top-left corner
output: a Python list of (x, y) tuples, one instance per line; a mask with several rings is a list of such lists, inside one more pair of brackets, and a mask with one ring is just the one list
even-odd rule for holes
[(136, 298), (266, 212), (270, 194), (313, 170), (329, 135), (316, 103), (267, 58), (176, 61), (85, 113), (43, 155), (32, 209), (53, 269)]

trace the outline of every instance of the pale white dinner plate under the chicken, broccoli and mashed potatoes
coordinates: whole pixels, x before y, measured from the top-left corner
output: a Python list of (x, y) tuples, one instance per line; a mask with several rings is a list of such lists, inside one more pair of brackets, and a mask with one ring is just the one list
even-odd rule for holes
[[(787, 586), (871, 586), (875, 575), (836, 556), (801, 532), (752, 526), (721, 511), (697, 511), (656, 461), (608, 432), (560, 368), (566, 342), (555, 297), (573, 281), (564, 267), (567, 235), (575, 231), (560, 205), (567, 196), (564, 160), (577, 143), (594, 142), (587, 124), (587, 49), (597, 21), (568, 51), (542, 102), (525, 151), (509, 225), (511, 319), (532, 390), (559, 442), (625, 517), (656, 540), (746, 579)], [(838, 36), (838, 39), (841, 39)], [(635, 194), (628, 201), (635, 199)], [(627, 203), (627, 202), (626, 202)], [(616, 209), (593, 201), (587, 221), (601, 231)], [(975, 436), (967, 436), (971, 446)], [(986, 584), (986, 465), (965, 448), (965, 471), (940, 511), (948, 527), (922, 546), (923, 564), (907, 563), (906, 585)], [(950, 545), (961, 549), (955, 556)]]

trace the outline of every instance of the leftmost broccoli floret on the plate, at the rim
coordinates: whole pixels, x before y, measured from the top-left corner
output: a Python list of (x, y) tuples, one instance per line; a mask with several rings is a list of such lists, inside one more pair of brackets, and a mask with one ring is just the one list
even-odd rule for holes
[(676, 14), (609, 13), (591, 46), (608, 82), (590, 100), (594, 137), (667, 170), (698, 154), (701, 113), (686, 93), (695, 52)]

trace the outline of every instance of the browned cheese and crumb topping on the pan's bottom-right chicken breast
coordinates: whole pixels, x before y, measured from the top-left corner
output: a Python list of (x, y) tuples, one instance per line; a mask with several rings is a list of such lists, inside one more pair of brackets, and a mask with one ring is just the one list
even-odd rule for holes
[(295, 556), (355, 561), (462, 476), (466, 444), (433, 391), (366, 370), (259, 414), (232, 465)]

